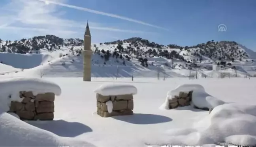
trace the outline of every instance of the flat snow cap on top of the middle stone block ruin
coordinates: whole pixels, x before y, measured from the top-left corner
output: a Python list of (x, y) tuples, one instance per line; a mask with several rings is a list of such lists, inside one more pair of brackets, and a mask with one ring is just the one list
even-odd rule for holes
[(98, 89), (94, 91), (101, 95), (129, 95), (137, 94), (137, 88), (129, 84), (103, 84)]

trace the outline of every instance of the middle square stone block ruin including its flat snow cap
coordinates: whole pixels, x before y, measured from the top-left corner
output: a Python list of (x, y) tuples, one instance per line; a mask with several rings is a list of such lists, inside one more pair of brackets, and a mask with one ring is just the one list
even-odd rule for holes
[(102, 117), (132, 115), (133, 95), (137, 88), (127, 84), (105, 84), (94, 91), (97, 98), (97, 114)]

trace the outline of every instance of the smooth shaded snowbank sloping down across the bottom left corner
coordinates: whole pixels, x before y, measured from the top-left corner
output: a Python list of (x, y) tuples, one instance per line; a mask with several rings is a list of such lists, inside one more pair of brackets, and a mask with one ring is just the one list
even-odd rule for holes
[(95, 147), (34, 127), (1, 110), (0, 130), (1, 147)]

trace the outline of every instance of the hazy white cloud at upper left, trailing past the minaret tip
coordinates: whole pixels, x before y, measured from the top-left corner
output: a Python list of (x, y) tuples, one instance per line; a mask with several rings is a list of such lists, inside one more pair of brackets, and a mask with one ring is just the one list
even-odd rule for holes
[[(64, 0), (55, 1), (58, 3), (64, 2)], [(76, 33), (76, 36), (83, 36), (86, 26), (86, 22), (62, 19), (63, 14), (66, 13), (65, 11), (58, 10), (57, 5), (46, 5), (37, 0), (10, 0), (9, 4), (0, 9), (0, 13), (3, 14), (0, 16), (0, 31), (1, 29), (7, 29), (17, 30), (17, 33), (27, 31), (28, 34), (33, 35), (38, 32), (38, 34), (46, 33), (60, 36), (74, 36)], [(90, 22), (90, 29), (95, 31), (150, 33), (102, 27), (100, 23), (95, 22)]]

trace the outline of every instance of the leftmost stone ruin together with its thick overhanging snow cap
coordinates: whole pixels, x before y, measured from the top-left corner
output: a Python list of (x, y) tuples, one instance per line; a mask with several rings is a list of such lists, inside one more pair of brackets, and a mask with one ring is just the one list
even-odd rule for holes
[(38, 78), (13, 78), (0, 81), (0, 105), (21, 120), (53, 120), (58, 85)]

